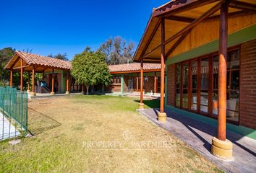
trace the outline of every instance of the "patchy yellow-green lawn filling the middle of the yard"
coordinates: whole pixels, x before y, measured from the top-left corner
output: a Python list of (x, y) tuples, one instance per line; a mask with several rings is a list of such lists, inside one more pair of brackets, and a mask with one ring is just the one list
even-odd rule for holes
[(28, 123), (34, 136), (14, 146), (0, 143), (0, 172), (221, 172), (136, 112), (138, 102), (113, 96), (33, 99)]

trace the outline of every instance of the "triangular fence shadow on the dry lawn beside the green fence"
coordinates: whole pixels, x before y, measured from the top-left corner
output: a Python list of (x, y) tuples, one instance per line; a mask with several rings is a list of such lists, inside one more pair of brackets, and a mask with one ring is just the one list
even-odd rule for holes
[(28, 109), (28, 130), (30, 133), (35, 136), (40, 133), (43, 133), (47, 130), (59, 127), (61, 123), (49, 117), (48, 115), (33, 110), (30, 107)]

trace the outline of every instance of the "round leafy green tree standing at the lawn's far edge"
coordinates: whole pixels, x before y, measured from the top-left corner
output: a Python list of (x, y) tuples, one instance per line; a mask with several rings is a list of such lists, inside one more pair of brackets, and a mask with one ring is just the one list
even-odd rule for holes
[(111, 84), (111, 74), (105, 62), (105, 55), (101, 51), (93, 52), (89, 47), (72, 60), (72, 77), (77, 84), (86, 86), (86, 94), (89, 94), (89, 86)]

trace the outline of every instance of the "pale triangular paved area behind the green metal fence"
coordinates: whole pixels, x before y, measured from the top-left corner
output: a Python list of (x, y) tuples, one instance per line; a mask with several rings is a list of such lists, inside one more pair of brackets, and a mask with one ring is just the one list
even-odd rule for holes
[(0, 141), (16, 136), (20, 136), (20, 131), (17, 130), (12, 123), (9, 123), (7, 117), (3, 116), (0, 111)]

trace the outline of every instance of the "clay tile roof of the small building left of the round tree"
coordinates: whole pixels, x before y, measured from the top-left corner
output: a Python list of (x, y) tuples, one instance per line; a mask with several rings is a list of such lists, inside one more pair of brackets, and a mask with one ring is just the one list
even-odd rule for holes
[(25, 53), (22, 51), (16, 52), (26, 63), (35, 64), (35, 65), (41, 65), (41, 66), (50, 66), (55, 68), (71, 68), (71, 62), (60, 60), (57, 58), (50, 58), (46, 56), (38, 56), (33, 53)]

